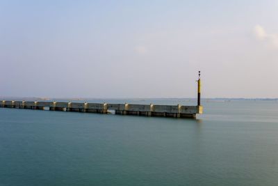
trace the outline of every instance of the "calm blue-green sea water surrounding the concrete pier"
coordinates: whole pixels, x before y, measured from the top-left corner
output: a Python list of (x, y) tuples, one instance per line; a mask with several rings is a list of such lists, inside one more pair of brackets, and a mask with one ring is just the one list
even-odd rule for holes
[(0, 108), (0, 185), (278, 185), (278, 102), (208, 101), (204, 111), (191, 120)]

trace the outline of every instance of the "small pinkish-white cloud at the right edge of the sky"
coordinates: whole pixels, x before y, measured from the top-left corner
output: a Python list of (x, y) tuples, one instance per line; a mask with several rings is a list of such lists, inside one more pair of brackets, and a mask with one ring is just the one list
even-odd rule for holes
[(257, 24), (254, 26), (254, 36), (263, 42), (267, 42), (268, 45), (278, 48), (278, 34), (277, 33), (267, 33), (263, 26)]

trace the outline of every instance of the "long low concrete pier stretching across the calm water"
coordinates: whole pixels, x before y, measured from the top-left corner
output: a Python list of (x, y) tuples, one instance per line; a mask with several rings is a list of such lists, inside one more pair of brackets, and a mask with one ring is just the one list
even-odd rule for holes
[(0, 100), (0, 107), (17, 109), (47, 109), (49, 111), (79, 111), (99, 114), (115, 114), (134, 116), (163, 116), (172, 118), (196, 118), (202, 114), (202, 106), (160, 105), (160, 104), (110, 104), (88, 102), (42, 102)]

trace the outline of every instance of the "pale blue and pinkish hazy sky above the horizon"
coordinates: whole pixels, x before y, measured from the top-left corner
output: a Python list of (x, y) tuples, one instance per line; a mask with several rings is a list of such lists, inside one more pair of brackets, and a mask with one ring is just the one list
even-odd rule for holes
[(278, 98), (278, 1), (1, 1), (0, 96)]

